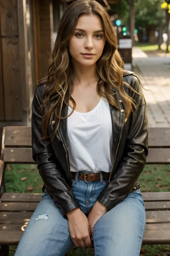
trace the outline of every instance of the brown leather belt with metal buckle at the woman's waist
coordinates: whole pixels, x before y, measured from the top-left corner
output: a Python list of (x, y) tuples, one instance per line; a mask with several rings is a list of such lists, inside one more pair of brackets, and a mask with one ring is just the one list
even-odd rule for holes
[[(109, 179), (110, 172), (102, 172), (102, 174), (103, 174), (103, 180), (108, 180)], [(71, 176), (72, 176), (72, 178), (75, 178), (76, 177), (76, 172), (71, 171)], [(83, 173), (79, 172), (78, 179), (85, 180), (85, 181), (100, 180), (100, 174), (99, 173), (89, 174), (88, 172), (83, 174)]]

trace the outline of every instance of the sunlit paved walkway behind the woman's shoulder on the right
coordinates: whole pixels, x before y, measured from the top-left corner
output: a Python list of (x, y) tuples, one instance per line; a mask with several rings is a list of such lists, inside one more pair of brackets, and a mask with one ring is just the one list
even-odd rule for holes
[(147, 90), (149, 127), (170, 126), (170, 58), (148, 57), (140, 48), (133, 48), (134, 72)]

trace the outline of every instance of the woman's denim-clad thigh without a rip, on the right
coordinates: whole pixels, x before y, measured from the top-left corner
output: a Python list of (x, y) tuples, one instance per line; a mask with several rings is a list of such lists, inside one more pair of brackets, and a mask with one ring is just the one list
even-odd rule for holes
[(95, 256), (140, 255), (145, 225), (145, 206), (138, 189), (106, 212), (96, 223)]

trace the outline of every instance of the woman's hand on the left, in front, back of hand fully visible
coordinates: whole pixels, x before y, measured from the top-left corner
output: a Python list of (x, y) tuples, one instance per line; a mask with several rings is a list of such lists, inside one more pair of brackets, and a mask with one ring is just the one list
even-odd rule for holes
[(90, 225), (86, 215), (80, 208), (75, 208), (68, 212), (67, 218), (69, 220), (70, 237), (74, 245), (76, 247), (92, 248)]

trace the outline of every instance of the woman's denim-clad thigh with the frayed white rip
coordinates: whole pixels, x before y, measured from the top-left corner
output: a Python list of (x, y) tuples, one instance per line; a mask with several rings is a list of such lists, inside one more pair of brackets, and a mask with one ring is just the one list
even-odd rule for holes
[(51, 197), (44, 194), (25, 228), (15, 256), (64, 256), (72, 246), (68, 221)]

